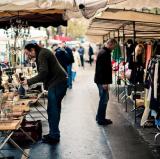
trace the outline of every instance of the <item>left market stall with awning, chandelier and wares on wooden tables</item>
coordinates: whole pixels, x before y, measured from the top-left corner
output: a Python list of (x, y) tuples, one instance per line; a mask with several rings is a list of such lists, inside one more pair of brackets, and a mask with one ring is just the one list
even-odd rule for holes
[[(14, 59), (15, 62), (16, 54), (22, 51), (22, 46), (24, 46), (25, 41), (28, 40), (30, 34), (30, 26), (33, 27), (48, 27), (54, 26), (57, 27), (59, 25), (66, 26), (67, 20), (72, 17), (81, 17), (82, 15), (86, 18), (90, 18), (93, 16), (99, 8), (105, 7), (107, 4), (111, 2), (120, 2), (121, 0), (112, 0), (112, 1), (86, 1), (85, 4), (80, 1), (37, 1), (37, 0), (29, 0), (29, 1), (21, 1), (14, 0), (8, 1), (3, 0), (0, 2), (0, 28), (9, 29), (12, 32), (12, 40), (13, 44), (11, 45), (8, 42), (6, 48), (8, 48), (8, 52)], [(7, 30), (6, 34), (10, 36), (10, 31)], [(19, 39), (23, 39), (21, 46), (19, 47), (18, 41)], [(9, 56), (10, 57), (10, 56)], [(11, 67), (12, 66), (12, 67)], [(2, 143), (0, 148), (3, 148), (3, 145), (7, 141), (11, 141), (19, 150), (23, 153), (24, 151), (12, 140), (11, 137), (14, 137), (14, 132), (17, 130), (22, 130), (22, 118), (25, 118), (26, 115), (30, 115), (34, 120), (34, 116), (30, 114), (30, 103), (39, 103), (38, 101), (41, 95), (44, 95), (46, 91), (41, 89), (41, 93), (36, 95), (36, 98), (33, 99), (34, 95), (28, 96), (28, 93), (24, 90), (22, 85), (20, 84), (20, 78), (23, 76), (32, 76), (36, 73), (33, 69), (30, 69), (30, 66), (24, 67), (21, 65), (20, 67), (16, 66), (16, 63), (11, 65), (9, 63), (8, 68), (1, 70), (1, 88), (3, 92), (14, 92), (13, 99), (11, 102), (8, 101), (10, 95), (7, 96), (7, 100), (4, 101), (4, 94), (1, 93), (1, 117), (0, 118), (0, 131), (8, 131), (9, 134), (5, 136), (5, 142)], [(27, 70), (27, 71), (26, 71)], [(33, 71), (32, 71), (33, 70)], [(3, 73), (3, 74), (2, 74)], [(18, 80), (17, 80), (18, 78)], [(15, 92), (18, 92), (15, 93)], [(34, 100), (34, 102), (33, 102)], [(45, 102), (45, 101), (44, 101)], [(35, 105), (36, 106), (36, 105)], [(41, 105), (43, 107), (43, 105)], [(36, 107), (35, 107), (36, 108)], [(36, 108), (45, 119), (44, 114)], [(45, 110), (46, 111), (46, 110)], [(4, 114), (3, 114), (4, 113)], [(14, 120), (16, 119), (16, 123), (14, 127), (8, 128), (8, 123), (13, 125)], [(21, 119), (20, 121), (18, 119)], [(3, 127), (4, 126), (4, 127)], [(1, 129), (1, 127), (3, 127)], [(31, 136), (25, 133), (31, 140)], [(25, 156), (28, 157), (28, 154), (24, 153)]]

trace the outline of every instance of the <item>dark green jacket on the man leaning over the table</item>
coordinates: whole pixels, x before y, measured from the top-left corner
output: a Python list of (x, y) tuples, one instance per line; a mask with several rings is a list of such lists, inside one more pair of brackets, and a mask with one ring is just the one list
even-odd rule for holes
[(41, 48), (36, 55), (36, 63), (38, 75), (28, 79), (28, 85), (43, 82), (45, 89), (48, 89), (67, 80), (67, 73), (50, 50)]

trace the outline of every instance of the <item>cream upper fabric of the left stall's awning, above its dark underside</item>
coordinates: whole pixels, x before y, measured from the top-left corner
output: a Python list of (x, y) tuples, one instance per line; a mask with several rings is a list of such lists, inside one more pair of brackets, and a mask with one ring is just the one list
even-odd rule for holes
[(82, 16), (82, 14), (90, 18), (97, 10), (121, 1), (124, 0), (1, 0), (0, 12), (23, 11), (24, 14), (25, 11), (39, 13), (41, 10), (49, 10), (50, 12), (52, 10), (64, 10), (67, 16), (70, 16), (69, 18)]

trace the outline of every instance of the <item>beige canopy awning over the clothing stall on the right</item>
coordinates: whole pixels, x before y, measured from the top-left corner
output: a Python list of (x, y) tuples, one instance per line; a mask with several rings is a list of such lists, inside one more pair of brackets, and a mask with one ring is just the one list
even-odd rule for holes
[(117, 37), (124, 34), (133, 37), (133, 24), (135, 24), (136, 37), (160, 37), (160, 15), (144, 13), (133, 10), (108, 8), (102, 14), (96, 16), (89, 25), (87, 34), (105, 36), (114, 33)]

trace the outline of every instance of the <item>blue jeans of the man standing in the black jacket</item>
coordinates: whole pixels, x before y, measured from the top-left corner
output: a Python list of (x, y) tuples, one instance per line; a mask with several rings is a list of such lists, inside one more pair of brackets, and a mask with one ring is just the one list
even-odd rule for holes
[(106, 109), (109, 100), (109, 92), (108, 90), (105, 90), (101, 84), (97, 84), (97, 86), (99, 90), (100, 100), (99, 100), (96, 120), (99, 122), (101, 121), (103, 122), (106, 116)]

